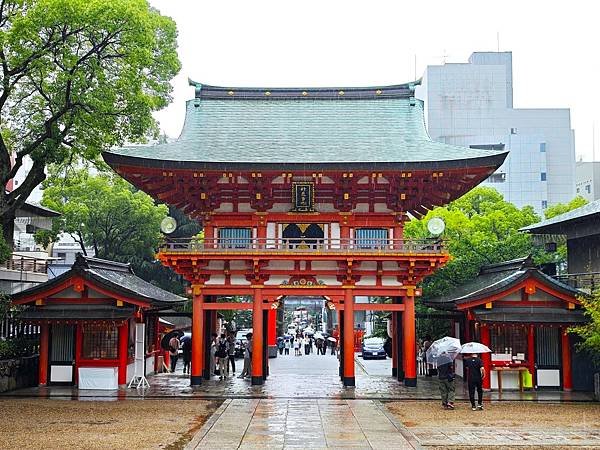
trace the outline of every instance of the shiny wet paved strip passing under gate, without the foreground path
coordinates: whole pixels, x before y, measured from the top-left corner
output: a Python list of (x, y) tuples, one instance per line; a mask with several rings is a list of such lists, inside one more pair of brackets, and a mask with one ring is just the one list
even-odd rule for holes
[[(371, 400), (437, 400), (438, 383), (435, 378), (419, 377), (417, 387), (405, 387), (385, 373), (389, 360), (362, 361), (357, 358), (356, 387), (344, 388), (338, 376), (335, 356), (283, 356), (271, 359), (270, 375), (262, 386), (252, 386), (249, 379), (230, 377), (203, 381), (201, 386), (190, 387), (189, 378), (181, 373), (157, 374), (149, 377), (151, 387), (145, 390), (118, 391), (77, 390), (71, 387), (36, 387), (10, 392), (9, 396), (69, 397), (77, 399), (123, 398), (328, 398)], [(238, 365), (242, 362), (238, 360)], [(238, 373), (239, 373), (238, 368)], [(390, 370), (391, 371), (391, 370)], [(457, 400), (468, 399), (462, 383), (457, 385)], [(484, 393), (486, 400), (531, 401), (591, 401), (591, 393), (559, 391), (504, 391)]]

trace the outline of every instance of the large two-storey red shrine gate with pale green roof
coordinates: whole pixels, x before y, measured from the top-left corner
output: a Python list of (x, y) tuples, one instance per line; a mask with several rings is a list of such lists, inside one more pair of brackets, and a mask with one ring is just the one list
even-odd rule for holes
[[(115, 149), (121, 176), (204, 226), (170, 242), (162, 263), (192, 285), (192, 385), (207, 377), (217, 310), (251, 309), (252, 383), (268, 374), (275, 313), (286, 296), (321, 296), (339, 314), (345, 386), (354, 378), (354, 312), (392, 313), (393, 373), (416, 385), (418, 284), (448, 260), (404, 223), (487, 178), (504, 152), (433, 142), (415, 83), (259, 89), (193, 83), (179, 139)], [(240, 295), (248, 303), (221, 297)], [(389, 303), (357, 303), (356, 297)], [(272, 342), (268, 342), (272, 340)]]

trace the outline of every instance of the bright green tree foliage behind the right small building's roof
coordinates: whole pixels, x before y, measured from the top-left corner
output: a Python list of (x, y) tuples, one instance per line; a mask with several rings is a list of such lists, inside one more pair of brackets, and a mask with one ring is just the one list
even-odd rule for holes
[(441, 217), (442, 238), (451, 261), (423, 283), (423, 298), (449, 292), (477, 276), (481, 266), (507, 261), (535, 251), (531, 236), (518, 230), (539, 221), (531, 206), (522, 209), (504, 200), (495, 189), (478, 187), (445, 207), (435, 208), (421, 220), (408, 222), (406, 238), (430, 237), (427, 221)]

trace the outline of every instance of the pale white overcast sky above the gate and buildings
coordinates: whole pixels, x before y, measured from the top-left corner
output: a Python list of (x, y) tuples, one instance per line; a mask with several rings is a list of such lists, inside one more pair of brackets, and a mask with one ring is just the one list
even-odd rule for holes
[[(596, 1), (150, 0), (177, 22), (174, 102), (156, 114), (183, 125), (187, 78), (217, 86), (398, 84), (474, 51), (513, 52), (516, 108), (571, 108), (577, 158), (600, 160), (600, 19)], [(416, 67), (415, 67), (416, 55)]]

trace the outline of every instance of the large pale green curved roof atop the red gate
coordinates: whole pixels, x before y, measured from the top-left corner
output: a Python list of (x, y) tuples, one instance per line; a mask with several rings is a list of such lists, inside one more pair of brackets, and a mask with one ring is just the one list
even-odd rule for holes
[(423, 103), (411, 95), (408, 85), (272, 92), (197, 85), (196, 98), (187, 102), (185, 124), (177, 141), (116, 148), (105, 157), (305, 164), (491, 157), (494, 162), (500, 160), (498, 165), (502, 162), (507, 152), (432, 141), (425, 129)]

